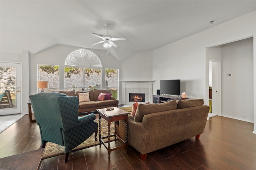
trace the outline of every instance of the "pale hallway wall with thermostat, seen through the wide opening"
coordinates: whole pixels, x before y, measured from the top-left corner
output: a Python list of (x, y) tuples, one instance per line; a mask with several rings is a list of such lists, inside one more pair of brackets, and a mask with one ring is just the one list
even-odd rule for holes
[(253, 122), (253, 103), (253, 38), (222, 45), (222, 115)]

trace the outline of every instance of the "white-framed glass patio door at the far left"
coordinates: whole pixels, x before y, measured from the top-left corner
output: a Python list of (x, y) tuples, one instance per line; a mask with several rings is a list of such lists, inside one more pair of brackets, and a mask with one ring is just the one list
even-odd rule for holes
[(0, 115), (20, 113), (20, 63), (0, 62)]

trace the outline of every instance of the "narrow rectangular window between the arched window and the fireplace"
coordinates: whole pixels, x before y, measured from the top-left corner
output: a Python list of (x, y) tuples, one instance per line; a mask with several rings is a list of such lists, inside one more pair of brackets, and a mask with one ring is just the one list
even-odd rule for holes
[(118, 69), (106, 68), (106, 88), (110, 89), (112, 96), (118, 99)]

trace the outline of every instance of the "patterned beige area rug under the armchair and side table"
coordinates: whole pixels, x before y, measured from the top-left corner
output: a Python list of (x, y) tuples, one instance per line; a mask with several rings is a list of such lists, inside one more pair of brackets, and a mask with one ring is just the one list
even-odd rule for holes
[[(129, 109), (126, 107), (120, 107), (120, 109), (124, 109), (126, 111), (131, 110), (131, 108)], [(96, 115), (95, 122), (99, 123), (99, 116), (98, 116), (98, 114), (95, 114), (95, 115)], [(108, 122), (105, 119), (101, 118), (100, 123), (101, 123), (101, 127), (102, 127), (101, 128), (101, 136), (102, 137), (107, 136), (108, 135)], [(114, 130), (114, 122), (111, 122), (110, 134), (114, 134), (114, 131), (115, 131)], [(92, 136), (90, 136), (88, 139), (86, 139), (86, 141), (84, 141), (81, 145), (78, 145), (76, 148), (72, 149), (70, 152), (75, 152), (77, 150), (86, 149), (89, 147), (99, 145), (100, 144), (99, 129), (98, 129), (98, 134), (97, 134), (97, 141), (95, 141), (94, 135), (95, 135), (95, 133)], [(108, 139), (104, 139), (103, 141), (107, 142)], [(114, 137), (110, 137), (110, 141), (114, 141)], [(64, 154), (64, 150), (65, 150), (64, 146), (48, 142), (48, 143), (46, 143), (42, 159), (46, 159), (46, 158), (50, 158), (50, 157), (57, 156), (60, 154)]]

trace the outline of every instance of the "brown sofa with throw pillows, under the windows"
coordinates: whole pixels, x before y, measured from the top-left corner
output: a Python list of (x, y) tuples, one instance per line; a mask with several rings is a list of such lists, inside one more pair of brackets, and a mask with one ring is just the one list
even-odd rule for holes
[(59, 92), (64, 93), (68, 96), (77, 96), (79, 98), (78, 93), (85, 93), (89, 92), (89, 98), (90, 101), (88, 102), (79, 102), (78, 112), (91, 112), (96, 111), (96, 109), (106, 108), (106, 107), (117, 107), (118, 100), (116, 98), (111, 97), (110, 100), (97, 100), (100, 93), (111, 93), (111, 90), (107, 89), (93, 89), (93, 90), (86, 90), (86, 91), (75, 91), (75, 90), (69, 90), (69, 91), (53, 91), (53, 92)]

